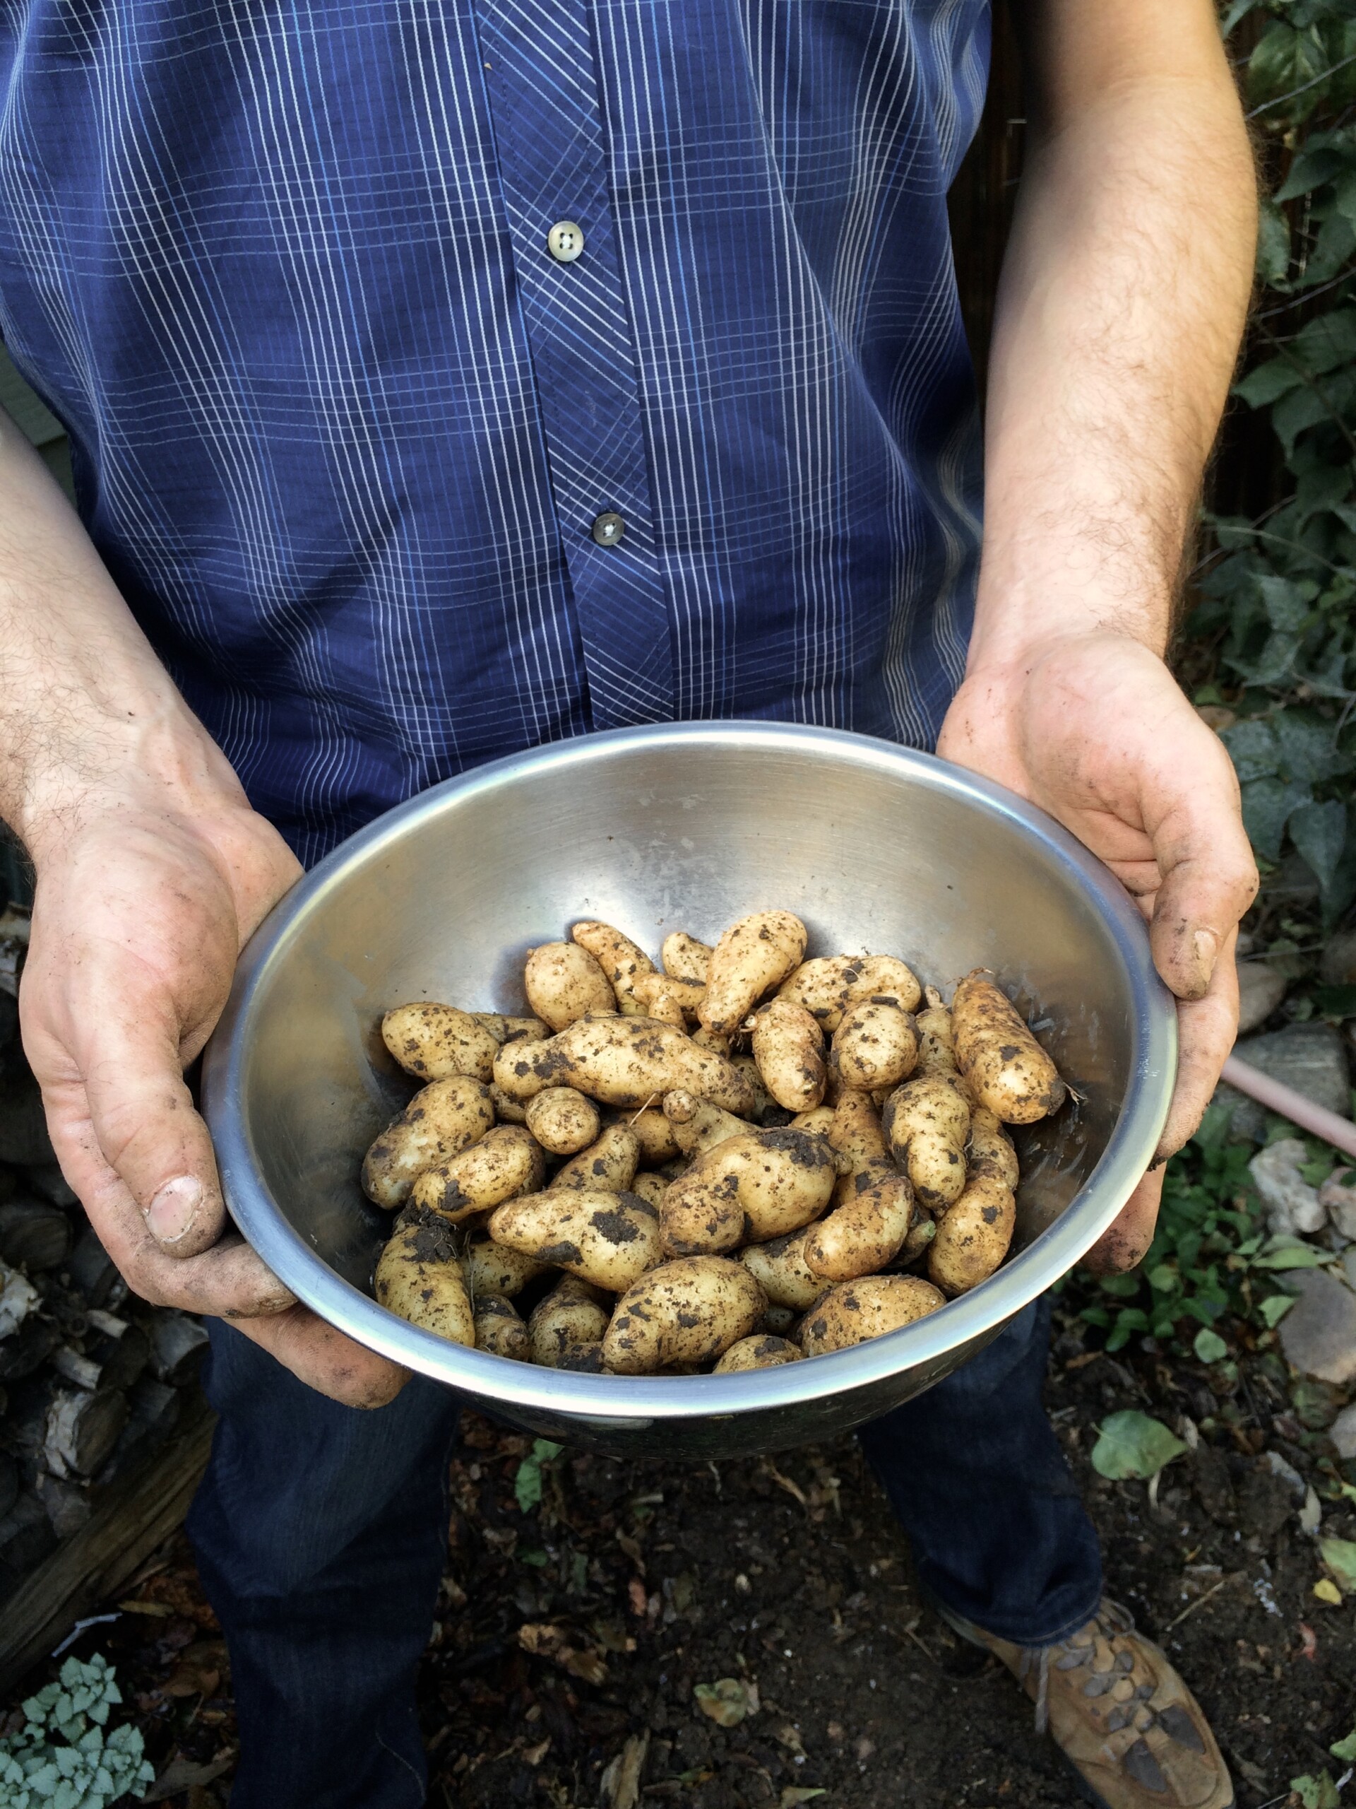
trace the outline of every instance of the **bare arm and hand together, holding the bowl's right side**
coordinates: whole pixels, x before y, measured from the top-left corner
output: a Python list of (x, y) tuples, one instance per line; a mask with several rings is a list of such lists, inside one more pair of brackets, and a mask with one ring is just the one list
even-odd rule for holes
[[(1248, 311), (1257, 183), (1213, 0), (1016, 0), (1027, 156), (994, 315), (984, 561), (940, 753), (1041, 805), (1150, 919), (1179, 999), (1159, 1156), (1233, 1042), (1238, 787), (1161, 655)], [(1132, 1268), (1163, 1176), (1088, 1264)]]

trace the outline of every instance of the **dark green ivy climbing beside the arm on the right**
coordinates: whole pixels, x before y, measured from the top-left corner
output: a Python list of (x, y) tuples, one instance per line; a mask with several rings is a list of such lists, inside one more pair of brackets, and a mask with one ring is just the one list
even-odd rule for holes
[(1258, 519), (1206, 517), (1186, 633), (1211, 649), (1197, 702), (1235, 718), (1222, 740), (1255, 852), (1295, 847), (1334, 923), (1356, 897), (1356, 0), (1233, 0), (1222, 27), (1271, 175), (1235, 396), (1267, 416), (1289, 494)]

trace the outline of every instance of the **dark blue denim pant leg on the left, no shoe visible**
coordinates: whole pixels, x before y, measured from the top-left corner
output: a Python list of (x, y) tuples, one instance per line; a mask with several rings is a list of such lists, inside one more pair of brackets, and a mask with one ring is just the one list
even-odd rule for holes
[(414, 1677), (447, 1559), (457, 1398), (325, 1400), (212, 1321), (221, 1415), (188, 1516), (231, 1653), (235, 1809), (418, 1809)]

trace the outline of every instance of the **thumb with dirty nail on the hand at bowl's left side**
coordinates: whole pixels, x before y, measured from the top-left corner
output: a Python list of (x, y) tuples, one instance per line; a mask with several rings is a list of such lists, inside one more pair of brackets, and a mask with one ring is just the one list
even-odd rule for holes
[(199, 1255), (226, 1223), (208, 1127), (179, 1066), (177, 1024), (145, 995), (136, 1011), (110, 1013), (81, 1062), (90, 1127), (172, 1255)]

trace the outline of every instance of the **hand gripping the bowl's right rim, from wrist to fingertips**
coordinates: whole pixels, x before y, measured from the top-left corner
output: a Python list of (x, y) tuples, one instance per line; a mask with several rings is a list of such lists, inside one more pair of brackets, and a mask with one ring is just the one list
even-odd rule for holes
[[(1201, 1123), (1238, 1024), (1233, 944), (1257, 865), (1229, 756), (1163, 660), (1105, 631), (975, 671), (937, 751), (1049, 810), (1137, 899), (1179, 999), (1177, 1087), (1157, 1151), (1172, 1156)], [(1163, 1174), (1144, 1176), (1088, 1266), (1141, 1259), (1161, 1192)]]

